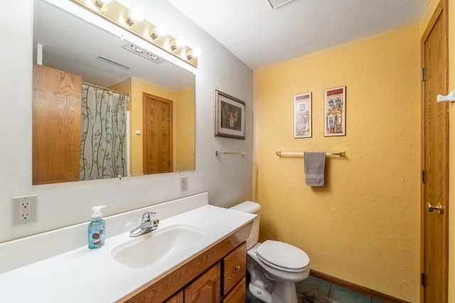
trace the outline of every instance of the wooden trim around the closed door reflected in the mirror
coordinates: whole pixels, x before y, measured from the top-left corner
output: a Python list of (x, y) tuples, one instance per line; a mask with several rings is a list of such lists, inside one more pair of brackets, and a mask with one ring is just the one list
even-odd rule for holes
[[(146, 174), (146, 161), (147, 161), (147, 98), (155, 99), (158, 101), (166, 102), (169, 104), (169, 111), (171, 112), (171, 116), (173, 116), (173, 102), (172, 100), (165, 99), (163, 97), (156, 96), (154, 94), (149, 94), (146, 92), (142, 92), (142, 170), (144, 175)], [(173, 117), (172, 117), (173, 119)], [(173, 170), (173, 121), (170, 121), (169, 125), (169, 167), (171, 171)]]

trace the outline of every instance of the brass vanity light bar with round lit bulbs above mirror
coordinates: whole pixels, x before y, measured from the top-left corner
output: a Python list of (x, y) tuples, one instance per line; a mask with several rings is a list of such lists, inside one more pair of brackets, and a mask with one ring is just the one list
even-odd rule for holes
[[(183, 37), (176, 38), (167, 32), (164, 24), (156, 25), (144, 18), (144, 11), (139, 8), (129, 9), (121, 4), (118, 0), (70, 0), (84, 9), (96, 13), (98, 16), (105, 18), (107, 21), (120, 26), (125, 31), (137, 35), (146, 42), (155, 45), (166, 53), (169, 53), (184, 62), (198, 67), (198, 56), (200, 50), (194, 50), (186, 45), (186, 39)], [(104, 9), (109, 4), (108, 9)], [(132, 49), (131, 49), (132, 50)], [(134, 50), (138, 53), (138, 49)], [(149, 53), (144, 50), (144, 53)], [(147, 55), (150, 60), (155, 60), (155, 55)], [(159, 60), (162, 60), (159, 58)]]

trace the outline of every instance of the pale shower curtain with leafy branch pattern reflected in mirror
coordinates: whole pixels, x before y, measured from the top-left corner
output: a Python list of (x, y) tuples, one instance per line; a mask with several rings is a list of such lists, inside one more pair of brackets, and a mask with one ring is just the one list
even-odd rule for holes
[(127, 175), (127, 94), (82, 84), (80, 180)]

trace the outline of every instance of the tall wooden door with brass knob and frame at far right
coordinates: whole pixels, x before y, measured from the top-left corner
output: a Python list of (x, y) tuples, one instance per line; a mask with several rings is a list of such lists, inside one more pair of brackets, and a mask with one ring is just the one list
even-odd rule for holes
[(422, 37), (421, 302), (424, 303), (444, 303), (448, 296), (449, 113), (446, 103), (437, 102), (437, 94), (446, 94), (448, 82), (445, 5), (441, 1)]

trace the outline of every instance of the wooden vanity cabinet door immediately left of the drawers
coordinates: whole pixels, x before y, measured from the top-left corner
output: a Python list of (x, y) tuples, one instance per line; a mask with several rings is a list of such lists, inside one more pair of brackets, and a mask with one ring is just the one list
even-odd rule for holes
[(184, 289), (186, 303), (220, 302), (220, 263), (216, 263)]

